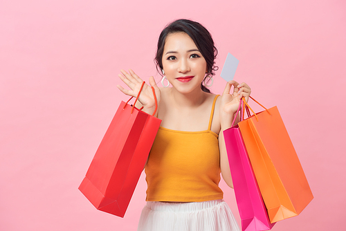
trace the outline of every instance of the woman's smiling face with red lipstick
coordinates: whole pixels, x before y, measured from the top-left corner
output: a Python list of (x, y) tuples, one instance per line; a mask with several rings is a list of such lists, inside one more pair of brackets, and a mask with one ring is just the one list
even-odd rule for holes
[(186, 33), (167, 35), (162, 57), (167, 80), (181, 93), (201, 89), (206, 76), (206, 59)]

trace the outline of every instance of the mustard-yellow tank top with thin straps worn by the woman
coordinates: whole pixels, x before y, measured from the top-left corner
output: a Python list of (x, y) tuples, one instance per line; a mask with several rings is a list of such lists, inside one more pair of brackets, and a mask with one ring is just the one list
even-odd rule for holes
[(146, 201), (210, 201), (221, 199), (220, 154), (217, 133), (176, 131), (160, 127), (149, 154), (145, 174)]

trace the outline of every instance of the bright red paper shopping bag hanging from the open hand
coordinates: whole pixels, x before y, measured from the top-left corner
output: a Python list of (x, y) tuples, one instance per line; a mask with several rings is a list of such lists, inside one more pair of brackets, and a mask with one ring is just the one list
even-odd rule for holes
[(98, 210), (121, 217), (125, 215), (161, 124), (153, 116), (156, 110), (149, 115), (127, 102), (120, 103), (79, 187)]

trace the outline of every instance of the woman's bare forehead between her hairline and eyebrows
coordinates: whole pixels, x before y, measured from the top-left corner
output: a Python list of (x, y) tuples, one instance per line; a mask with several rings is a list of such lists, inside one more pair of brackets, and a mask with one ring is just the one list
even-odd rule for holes
[(183, 32), (172, 33), (165, 39), (164, 52), (168, 50), (184, 51), (197, 48), (191, 37)]

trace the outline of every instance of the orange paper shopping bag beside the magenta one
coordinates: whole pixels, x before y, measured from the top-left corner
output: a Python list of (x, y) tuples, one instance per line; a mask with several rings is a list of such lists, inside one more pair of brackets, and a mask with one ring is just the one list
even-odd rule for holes
[(313, 195), (277, 107), (238, 124), (271, 223), (297, 216)]

